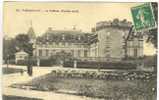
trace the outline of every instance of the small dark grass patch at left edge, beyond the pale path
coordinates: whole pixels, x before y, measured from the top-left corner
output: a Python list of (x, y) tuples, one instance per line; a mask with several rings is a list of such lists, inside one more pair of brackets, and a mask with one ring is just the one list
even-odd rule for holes
[(13, 74), (13, 73), (19, 73), (22, 72), (22, 69), (17, 69), (17, 68), (7, 68), (7, 67), (3, 67), (2, 68), (2, 72), (3, 74)]

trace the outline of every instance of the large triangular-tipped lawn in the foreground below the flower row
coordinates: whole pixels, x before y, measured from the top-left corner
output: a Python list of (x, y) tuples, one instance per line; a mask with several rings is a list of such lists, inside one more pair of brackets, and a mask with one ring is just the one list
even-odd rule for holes
[[(104, 98), (105, 100), (155, 100), (156, 79), (149, 80), (115, 80), (99, 78), (59, 77), (54, 73), (38, 77), (21, 84), (39, 91), (71, 93), (88, 97)], [(147, 98), (147, 99), (146, 99)]]

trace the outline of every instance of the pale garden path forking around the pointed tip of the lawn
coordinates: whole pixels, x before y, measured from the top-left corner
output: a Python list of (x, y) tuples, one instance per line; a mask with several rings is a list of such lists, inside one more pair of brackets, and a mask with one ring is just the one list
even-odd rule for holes
[[(9, 65), (9, 67), (21, 68), (21, 69), (26, 70), (26, 66)], [(3, 75), (2, 93), (5, 95), (40, 98), (43, 100), (97, 100), (97, 99), (88, 98), (85, 96), (59, 94), (59, 93), (54, 93), (54, 92), (36, 91), (36, 90), (29, 90), (29, 89), (22, 90), (22, 89), (18, 89), (18, 88), (9, 87), (11, 84), (28, 82), (35, 77), (39, 77), (39, 76), (45, 75), (47, 73), (50, 73), (53, 69), (56, 69), (56, 68), (58, 69), (59, 67), (34, 67), (32, 77), (29, 77), (26, 72), (24, 72), (23, 75), (21, 75), (21, 73)]]

